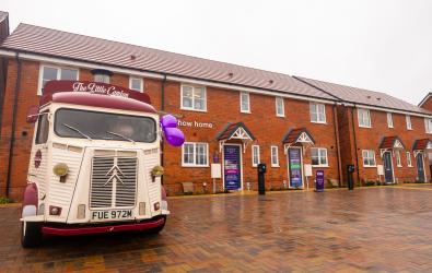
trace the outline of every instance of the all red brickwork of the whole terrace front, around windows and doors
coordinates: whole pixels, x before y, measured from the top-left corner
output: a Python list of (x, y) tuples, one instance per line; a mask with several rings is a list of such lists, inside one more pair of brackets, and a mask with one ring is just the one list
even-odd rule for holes
[[(4, 96), (4, 108), (1, 116), (2, 128), (0, 139), (0, 194), (5, 194), (7, 170), (9, 158), (10, 133), (12, 130), (13, 99), (15, 94), (16, 81), (16, 61), (11, 59), (8, 68), (8, 81)], [(21, 199), (23, 188), (26, 182), (26, 171), (28, 166), (28, 155), (32, 146), (32, 136), (34, 124), (26, 122), (27, 109), (38, 104), (39, 64), (32, 61), (22, 61), (21, 88), (17, 93), (17, 115), (15, 128), (15, 150), (12, 162), (12, 176), (10, 197), (16, 200)], [(93, 75), (87, 69), (80, 69), (80, 80), (92, 81)], [(129, 75), (114, 74), (110, 82), (120, 86), (128, 87)], [(150, 95), (152, 104), (161, 108), (161, 80), (144, 79), (144, 91)], [(328, 152), (329, 167), (324, 168), (326, 178), (339, 179), (337, 162), (337, 144), (334, 128), (332, 105), (326, 106), (326, 124), (312, 123), (310, 121), (310, 104), (304, 100), (285, 98), (284, 108), (285, 117), (276, 116), (275, 97), (259, 94), (250, 94), (252, 114), (242, 114), (240, 111), (240, 93), (215, 87), (207, 87), (207, 112), (180, 110), (180, 84), (176, 82), (166, 82), (165, 84), (165, 111), (183, 115), (182, 120), (212, 122), (212, 129), (188, 128), (183, 127), (187, 141), (209, 143), (209, 163), (212, 163), (213, 153), (218, 152), (220, 161), (222, 153), (219, 151), (219, 143), (215, 140), (218, 133), (224, 128), (226, 122), (242, 121), (255, 135), (253, 144), (260, 146), (260, 159), (267, 163), (268, 171), (266, 174), (267, 188), (281, 188), (283, 180), (288, 180), (288, 163), (284, 155), (282, 138), (292, 128), (305, 127), (315, 139), (317, 147), (326, 147)], [(353, 146), (353, 130), (351, 123), (351, 108), (338, 106), (337, 118), (339, 123), (340, 153), (342, 162), (342, 173), (345, 174), (347, 164), (355, 164), (355, 150)], [(377, 164), (382, 164), (377, 145), (384, 135), (398, 135), (407, 149), (411, 150), (416, 139), (427, 138), (424, 133), (423, 119), (411, 117), (415, 130), (406, 129), (405, 115), (394, 114), (394, 129), (388, 129), (386, 123), (386, 114), (380, 111), (372, 112), (372, 129), (362, 129), (358, 127), (357, 114), (354, 115), (355, 136), (358, 142), (359, 168), (362, 179), (375, 179), (376, 168), (363, 168), (361, 150), (374, 149), (376, 151)], [(270, 146), (279, 147), (279, 166), (271, 167)], [(250, 182), (252, 188), (257, 188), (256, 168), (252, 166), (252, 147), (247, 146), (243, 156), (243, 181), (244, 188), (246, 182)], [(427, 156), (425, 156), (427, 157)], [(164, 150), (165, 177), (164, 183), (167, 186), (170, 194), (182, 190), (182, 182), (191, 181), (196, 185), (196, 190), (202, 190), (202, 183), (207, 182), (208, 189), (211, 189), (210, 167), (182, 167), (182, 149), (165, 145)], [(402, 166), (396, 167), (395, 158), (395, 177), (400, 180), (407, 180), (416, 177), (415, 157), (412, 156), (413, 167), (407, 167), (406, 154), (401, 153)], [(304, 152), (304, 163), (311, 163), (311, 150), (307, 147)], [(314, 168), (315, 173), (317, 168)], [(425, 169), (428, 177), (429, 162), (425, 158)], [(310, 186), (313, 186), (313, 179), (310, 179)], [(400, 181), (399, 180), (399, 181)], [(412, 179), (411, 179), (412, 180)], [(218, 188), (222, 189), (222, 180), (219, 179)]]

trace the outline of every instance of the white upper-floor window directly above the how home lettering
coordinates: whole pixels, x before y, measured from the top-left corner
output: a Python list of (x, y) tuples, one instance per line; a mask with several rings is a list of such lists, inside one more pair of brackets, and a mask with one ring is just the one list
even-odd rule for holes
[(182, 109), (206, 111), (206, 87), (182, 85)]

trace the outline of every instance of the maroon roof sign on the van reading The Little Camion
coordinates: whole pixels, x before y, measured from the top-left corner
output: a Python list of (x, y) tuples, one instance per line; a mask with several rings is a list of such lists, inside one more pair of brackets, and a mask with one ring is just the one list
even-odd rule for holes
[[(119, 96), (140, 100), (142, 103), (151, 104), (150, 97), (145, 93), (132, 91), (114, 84), (87, 82), (87, 81), (49, 81), (45, 84), (43, 90), (44, 97), (51, 97), (54, 93), (59, 92), (84, 92), (91, 94)], [(48, 99), (43, 99), (48, 103)]]

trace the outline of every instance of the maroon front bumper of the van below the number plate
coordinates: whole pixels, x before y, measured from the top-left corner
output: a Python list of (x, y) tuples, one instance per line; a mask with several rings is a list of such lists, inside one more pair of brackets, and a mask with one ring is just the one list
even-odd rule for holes
[(74, 235), (89, 235), (89, 234), (104, 234), (117, 232), (142, 232), (156, 228), (165, 224), (165, 217), (157, 217), (140, 223), (130, 224), (115, 224), (104, 226), (43, 226), (42, 233), (44, 235), (55, 236), (74, 236)]

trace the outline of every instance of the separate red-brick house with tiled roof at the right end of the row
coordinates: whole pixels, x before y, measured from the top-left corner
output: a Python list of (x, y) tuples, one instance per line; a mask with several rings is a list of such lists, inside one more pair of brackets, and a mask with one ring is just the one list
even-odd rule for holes
[[(337, 107), (342, 165), (355, 165), (358, 180), (389, 183), (430, 180), (429, 110), (385, 93), (296, 79), (342, 102)], [(384, 167), (382, 176), (377, 174), (378, 165)]]

